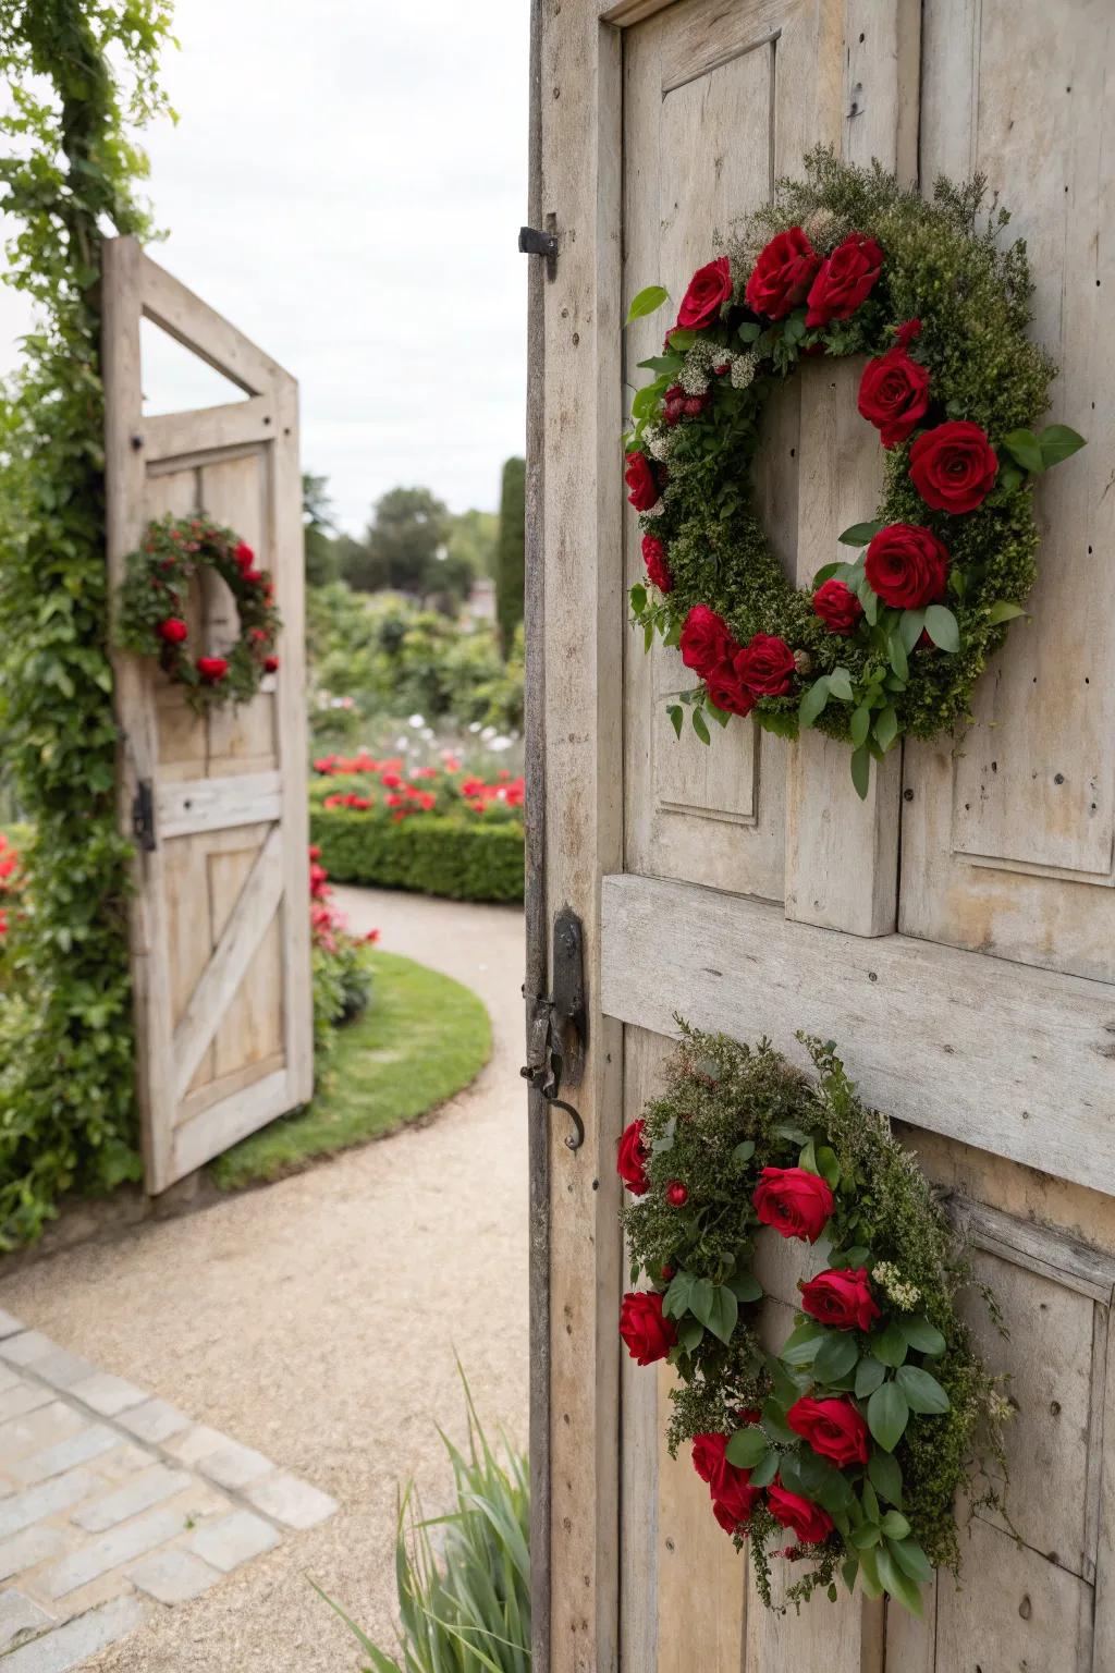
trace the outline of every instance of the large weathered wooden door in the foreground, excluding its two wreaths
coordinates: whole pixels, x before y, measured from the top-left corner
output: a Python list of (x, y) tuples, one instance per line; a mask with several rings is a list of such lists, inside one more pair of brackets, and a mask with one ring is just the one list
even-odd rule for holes
[[(570, 905), (590, 992), (567, 1094), (585, 1144), (533, 1111), (540, 1666), (1110, 1673), (1115, 17), (1108, 0), (537, 3), (533, 70), (532, 221), (558, 253), (532, 276), (530, 970), (542, 987)], [(675, 654), (645, 659), (625, 624), (642, 564), (619, 433), (662, 330), (622, 343), (625, 304), (654, 281), (680, 296), (714, 231), (819, 141), (923, 189), (990, 176), (1062, 366), (1051, 417), (1088, 435), (1041, 494), (1035, 619), (985, 676), (975, 726), (956, 750), (889, 756), (866, 803), (816, 734), (791, 748), (732, 723), (712, 750), (675, 743)], [(876, 504), (858, 370), (807, 368), (769, 417), (759, 495), (799, 579)], [(615, 1141), (675, 1010), (791, 1054), (796, 1029), (834, 1037), (966, 1203), (1011, 1322), (988, 1350), (1020, 1407), (1020, 1541), (978, 1514), (963, 1588), (944, 1576), (924, 1624), (848, 1601), (749, 1606), (705, 1489), (662, 1449), (665, 1377), (620, 1363)], [(767, 1288), (789, 1303), (782, 1265)]]

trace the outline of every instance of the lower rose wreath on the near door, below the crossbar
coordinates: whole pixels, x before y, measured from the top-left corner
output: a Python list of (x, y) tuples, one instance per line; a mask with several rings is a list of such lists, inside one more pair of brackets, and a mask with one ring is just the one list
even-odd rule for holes
[[(831, 1042), (799, 1036), (809, 1081), (767, 1041), (680, 1027), (665, 1092), (619, 1146), (632, 1283), (649, 1282), (624, 1297), (620, 1335), (640, 1365), (674, 1365), (670, 1454), (692, 1442), (767, 1606), (777, 1554), (807, 1564), (787, 1603), (836, 1599), (839, 1576), (919, 1614), (933, 1571), (958, 1571), (953, 1506), (975, 1459), (1006, 1476), (1011, 1407), (956, 1313), (971, 1283), (958, 1240)], [(777, 1352), (757, 1320), (764, 1226), (817, 1246), (821, 1268)], [(1000, 1502), (985, 1479), (973, 1509)]]

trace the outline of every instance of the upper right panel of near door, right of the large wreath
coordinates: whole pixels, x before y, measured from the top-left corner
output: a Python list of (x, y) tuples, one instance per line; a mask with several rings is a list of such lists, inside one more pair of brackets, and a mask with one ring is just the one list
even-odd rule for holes
[(923, 177), (985, 171), (1036, 283), (1060, 375), (1050, 418), (1088, 438), (1036, 494), (1033, 621), (1011, 629), (953, 755), (908, 750), (901, 929), (1112, 980), (1115, 945), (1115, 192), (1110, 7), (926, 0)]

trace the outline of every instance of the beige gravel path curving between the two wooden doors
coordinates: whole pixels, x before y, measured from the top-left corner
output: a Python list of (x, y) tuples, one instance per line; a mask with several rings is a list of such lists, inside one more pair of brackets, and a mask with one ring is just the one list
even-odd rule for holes
[(313, 1576), (393, 1648), (396, 1482), (426, 1511), (461, 1432), (453, 1352), (481, 1415), (527, 1435), (522, 913), (338, 890), (354, 929), (466, 982), (495, 1051), (430, 1126), (115, 1245), (13, 1273), (0, 1305), (333, 1494), (339, 1514), (104, 1651), (89, 1673), (351, 1673)]

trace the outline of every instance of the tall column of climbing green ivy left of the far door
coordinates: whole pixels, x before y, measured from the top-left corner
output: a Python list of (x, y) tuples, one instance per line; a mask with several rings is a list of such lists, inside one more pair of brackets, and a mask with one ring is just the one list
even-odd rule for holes
[(105, 229), (149, 231), (132, 136), (164, 109), (169, 22), (165, 0), (0, 0), (3, 278), (35, 304), (0, 398), (0, 748), (33, 828), (0, 992), (0, 1248), (139, 1173), (99, 279)]

